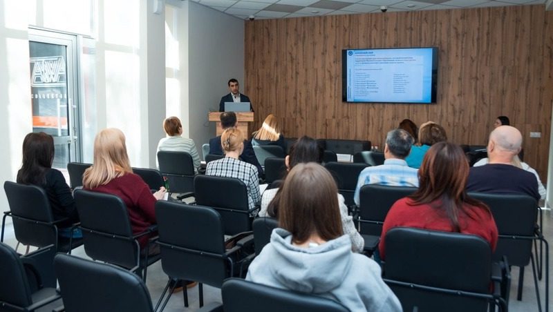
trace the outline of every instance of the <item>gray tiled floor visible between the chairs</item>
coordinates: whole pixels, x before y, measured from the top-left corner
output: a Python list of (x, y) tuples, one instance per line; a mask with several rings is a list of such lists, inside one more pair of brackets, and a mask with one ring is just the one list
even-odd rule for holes
[[(543, 227), (544, 234), (546, 239), (549, 242), (553, 242), (553, 213), (552, 211), (545, 211), (543, 213)], [(10, 246), (15, 247), (16, 241), (13, 235), (13, 230), (11, 225), (6, 229), (6, 243)], [(24, 252), (24, 248), (19, 246), (19, 252)], [(552, 255), (550, 251), (550, 255)], [(79, 257), (86, 257), (84, 254), (84, 248), (79, 247), (73, 251), (73, 255)], [(545, 269), (545, 268), (544, 268)], [(544, 270), (545, 271), (545, 270)], [(147, 278), (147, 287), (151, 294), (151, 299), (155, 305), (158, 301), (165, 284), (167, 283), (167, 275), (163, 273), (161, 269), (160, 262), (153, 264), (148, 269), (148, 278)], [(550, 272), (550, 278), (552, 273)], [(509, 309), (514, 312), (526, 312), (526, 311), (538, 311), (536, 304), (536, 295), (534, 293), (534, 282), (532, 277), (532, 269), (530, 266), (527, 266), (525, 269), (525, 277), (523, 284), (523, 300), (516, 300), (516, 289), (518, 285), (518, 269), (513, 268), (512, 270), (512, 286), (510, 292), (509, 300)], [(545, 291), (545, 278), (539, 282), (541, 290), (541, 300), (544, 301), (544, 291)], [(188, 291), (189, 298), (189, 308), (184, 307), (184, 300), (182, 298), (182, 293), (175, 293), (171, 296), (171, 300), (167, 304), (167, 307), (164, 311), (174, 312), (174, 311), (196, 311), (199, 307), (198, 302), (198, 286)], [(209, 302), (221, 302), (221, 291), (211, 286), (204, 286), (204, 302), (205, 304)], [(550, 309), (553, 309), (553, 304), (550, 304)]]

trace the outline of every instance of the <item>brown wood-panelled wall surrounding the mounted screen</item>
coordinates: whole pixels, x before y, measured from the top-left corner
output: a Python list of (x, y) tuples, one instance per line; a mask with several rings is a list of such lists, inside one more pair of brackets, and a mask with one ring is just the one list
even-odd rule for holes
[[(341, 50), (436, 46), (438, 104), (341, 101)], [(436, 121), (451, 142), (487, 143), (498, 115), (523, 132), (525, 161), (547, 177), (553, 12), (545, 6), (350, 14), (245, 22), (245, 93), (286, 137), (370, 139), (404, 118)], [(529, 132), (541, 132), (530, 139)]]

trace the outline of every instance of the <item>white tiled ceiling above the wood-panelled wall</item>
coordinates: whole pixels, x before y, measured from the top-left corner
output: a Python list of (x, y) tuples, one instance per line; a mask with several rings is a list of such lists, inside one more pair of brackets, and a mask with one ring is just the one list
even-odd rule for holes
[[(547, 0), (191, 0), (240, 19), (545, 4)], [(547, 3), (550, 5), (551, 3)]]

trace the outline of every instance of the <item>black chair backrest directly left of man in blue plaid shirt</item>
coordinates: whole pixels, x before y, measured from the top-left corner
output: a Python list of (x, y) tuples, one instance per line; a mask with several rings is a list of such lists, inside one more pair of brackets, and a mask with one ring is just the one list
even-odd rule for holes
[(353, 193), (355, 193), (357, 179), (359, 178), (359, 173), (361, 173), (367, 165), (345, 162), (328, 162), (324, 166), (328, 171), (330, 171), (332, 177), (336, 180), (338, 192), (344, 196), (346, 205), (350, 206), (355, 204), (355, 202), (353, 202)]

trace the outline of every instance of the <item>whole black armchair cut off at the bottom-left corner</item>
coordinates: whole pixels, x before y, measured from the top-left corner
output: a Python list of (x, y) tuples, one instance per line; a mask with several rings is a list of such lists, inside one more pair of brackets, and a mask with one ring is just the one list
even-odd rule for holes
[[(45, 280), (37, 267), (48, 266), (48, 263), (42, 263), (44, 259), (41, 260), (45, 253), (53, 260), (54, 245), (20, 257), (10, 246), (0, 243), (1, 311), (35, 311), (59, 300), (55, 278), (53, 284), (48, 277)], [(53, 275), (53, 272), (48, 275)]]

